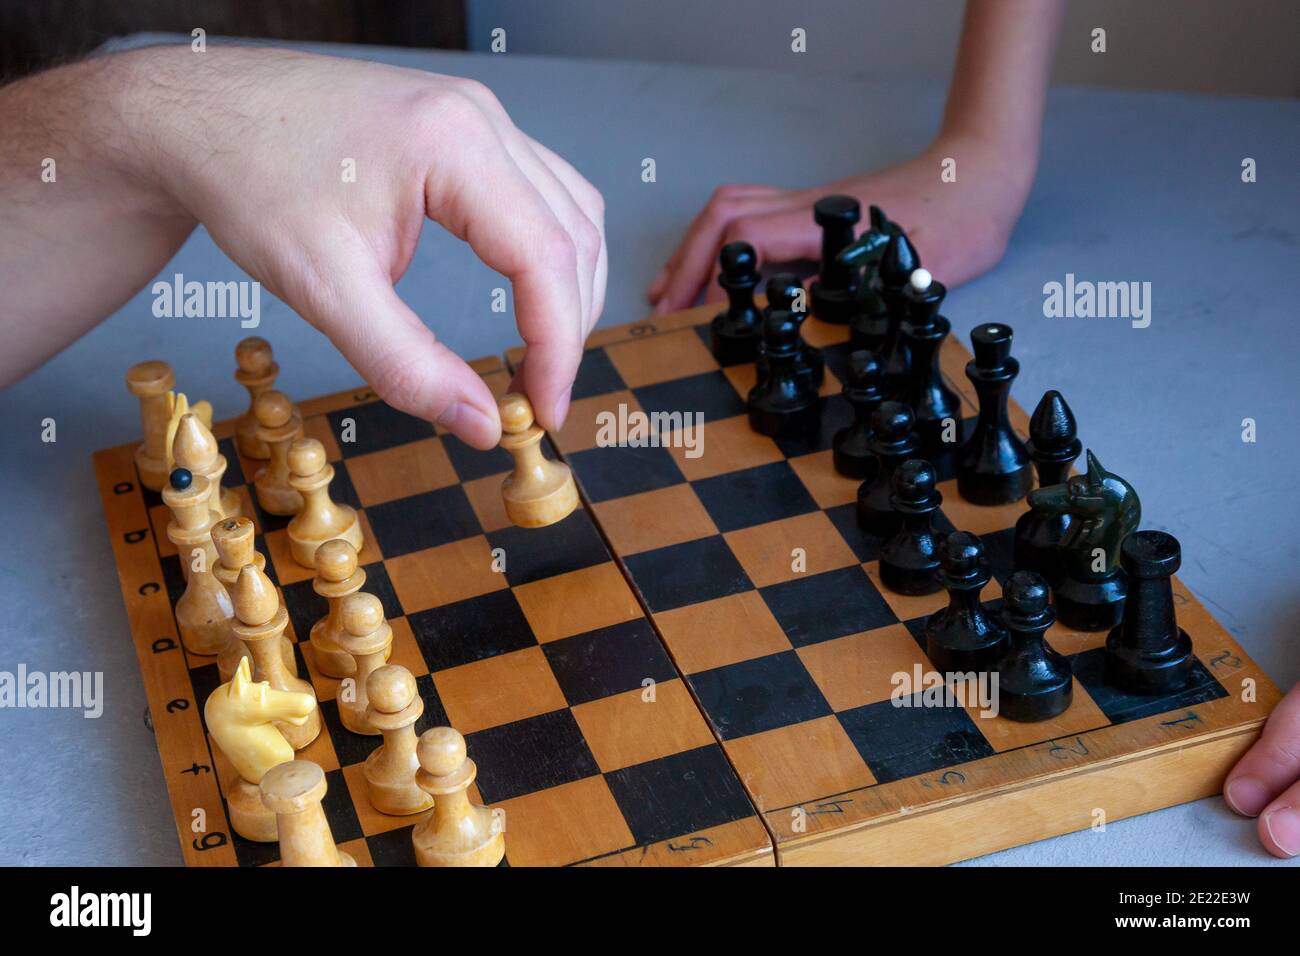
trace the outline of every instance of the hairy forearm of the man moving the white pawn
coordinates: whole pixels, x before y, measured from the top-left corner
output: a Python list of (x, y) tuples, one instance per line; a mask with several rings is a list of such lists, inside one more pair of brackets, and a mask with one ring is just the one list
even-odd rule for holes
[(117, 310), (194, 229), (140, 135), (134, 88), (150, 56), (98, 57), (0, 88), (0, 385)]

